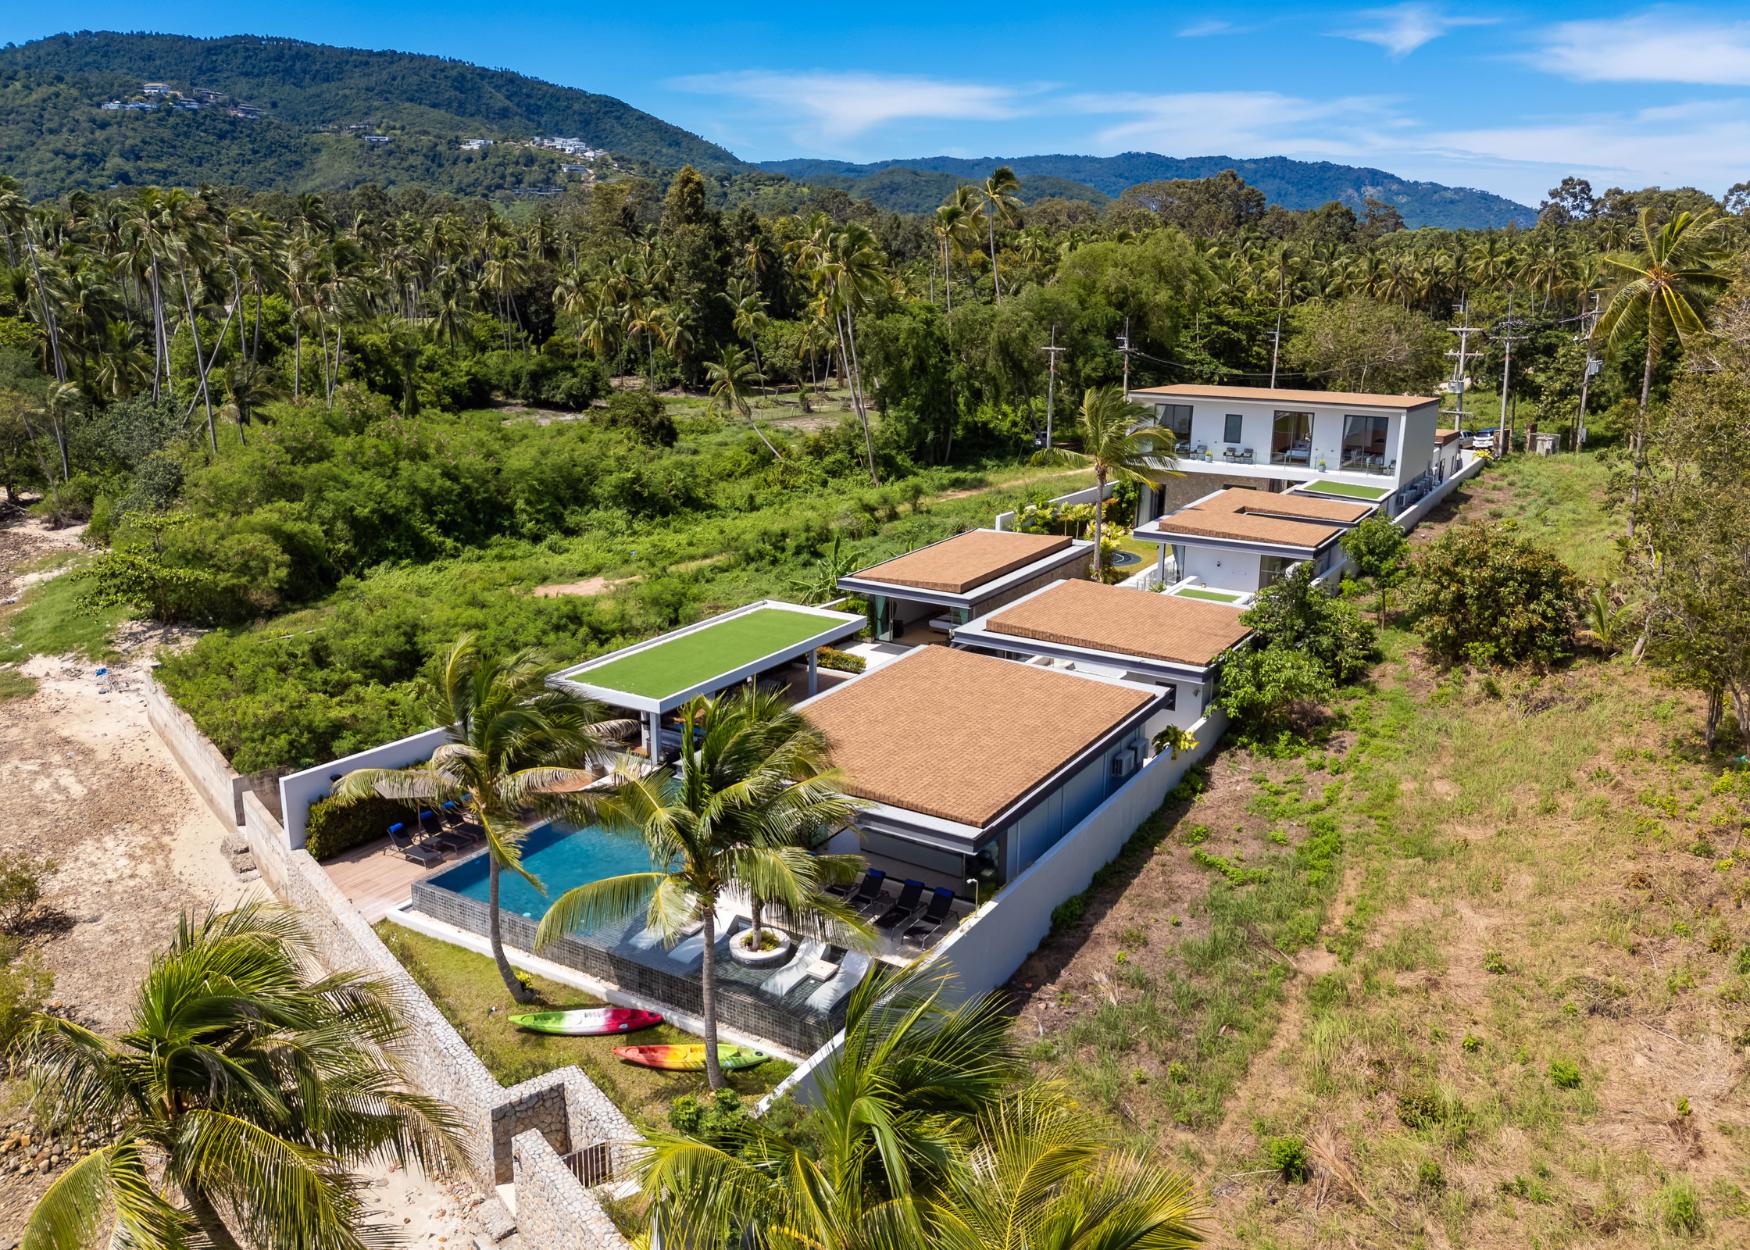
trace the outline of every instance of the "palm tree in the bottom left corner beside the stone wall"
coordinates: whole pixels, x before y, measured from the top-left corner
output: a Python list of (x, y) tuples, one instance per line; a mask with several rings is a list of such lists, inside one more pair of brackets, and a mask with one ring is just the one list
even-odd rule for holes
[(114, 1140), (49, 1185), (24, 1245), (382, 1245), (352, 1173), (458, 1157), (458, 1124), (394, 1057), (394, 991), (312, 965), (292, 912), (184, 914), (124, 1033), (37, 1015), (19, 1043), (37, 1113)]

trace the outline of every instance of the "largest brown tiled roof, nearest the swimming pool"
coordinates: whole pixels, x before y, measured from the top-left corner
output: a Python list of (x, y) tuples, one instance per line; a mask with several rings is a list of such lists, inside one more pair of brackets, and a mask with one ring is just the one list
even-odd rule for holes
[(845, 683), (807, 716), (852, 795), (984, 828), (1150, 699), (929, 646)]

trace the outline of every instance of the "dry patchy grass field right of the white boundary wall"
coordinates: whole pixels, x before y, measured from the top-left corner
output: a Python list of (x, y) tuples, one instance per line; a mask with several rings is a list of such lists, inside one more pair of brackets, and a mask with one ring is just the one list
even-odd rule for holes
[[(1601, 485), (1516, 457), (1458, 518), (1596, 578)], [(1022, 966), (1040, 1077), (1190, 1171), (1220, 1245), (1750, 1245), (1736, 742), (1622, 657), (1384, 653), (1323, 741), (1223, 744)]]

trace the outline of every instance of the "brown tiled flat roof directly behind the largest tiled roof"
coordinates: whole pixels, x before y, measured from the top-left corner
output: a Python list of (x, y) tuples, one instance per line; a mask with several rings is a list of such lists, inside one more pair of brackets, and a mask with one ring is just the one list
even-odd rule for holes
[(1059, 581), (985, 621), (994, 634), (1171, 664), (1209, 664), (1251, 630), (1239, 609), (1097, 581)]

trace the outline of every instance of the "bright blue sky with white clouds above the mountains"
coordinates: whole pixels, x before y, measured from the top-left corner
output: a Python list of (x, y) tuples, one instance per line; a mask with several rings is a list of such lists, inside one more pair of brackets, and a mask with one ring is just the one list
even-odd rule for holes
[(1297, 156), (1536, 203), (1750, 179), (1743, 5), (1264, 0), (726, 5), (536, 0), (7, 5), (61, 30), (290, 35), (513, 68), (620, 96), (746, 159), (1153, 151)]

